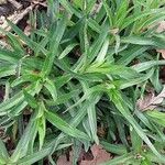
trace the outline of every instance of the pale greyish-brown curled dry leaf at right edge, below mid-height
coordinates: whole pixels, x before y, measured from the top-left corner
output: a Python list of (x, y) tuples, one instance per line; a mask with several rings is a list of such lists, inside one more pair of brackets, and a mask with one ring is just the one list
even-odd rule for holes
[(163, 102), (165, 98), (165, 88), (155, 97), (154, 92), (148, 94), (143, 99), (138, 100), (138, 108), (142, 111), (153, 110)]

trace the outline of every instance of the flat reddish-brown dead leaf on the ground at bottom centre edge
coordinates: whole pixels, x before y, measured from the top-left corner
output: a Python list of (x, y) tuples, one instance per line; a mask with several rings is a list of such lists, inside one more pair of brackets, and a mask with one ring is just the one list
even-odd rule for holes
[(106, 150), (102, 148), (101, 145), (92, 145), (91, 152), (94, 155), (92, 161), (81, 161), (80, 165), (100, 165), (101, 163), (105, 163), (109, 160), (111, 160), (110, 153), (106, 152)]

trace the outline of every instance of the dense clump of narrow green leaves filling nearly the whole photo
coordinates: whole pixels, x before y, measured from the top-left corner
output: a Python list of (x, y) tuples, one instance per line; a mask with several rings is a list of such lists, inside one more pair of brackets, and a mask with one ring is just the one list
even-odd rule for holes
[(156, 32), (164, 4), (48, 0), (47, 12), (31, 14), (30, 36), (8, 21), (14, 33), (4, 32), (9, 46), (0, 47), (0, 127), (13, 148), (0, 140), (0, 164), (54, 164), (69, 146), (76, 164), (92, 143), (117, 155), (107, 165), (165, 163), (165, 114), (136, 106), (148, 88), (164, 89), (156, 53), (165, 48)]

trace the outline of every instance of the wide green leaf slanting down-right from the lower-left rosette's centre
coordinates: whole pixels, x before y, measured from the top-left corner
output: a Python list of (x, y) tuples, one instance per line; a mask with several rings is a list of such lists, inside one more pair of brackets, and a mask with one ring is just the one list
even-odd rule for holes
[(66, 121), (64, 121), (62, 118), (59, 118), (57, 114), (52, 113), (52, 112), (46, 112), (46, 119), (55, 125), (57, 129), (63, 131), (64, 133), (77, 138), (77, 139), (82, 139), (89, 141), (89, 136), (85, 134), (84, 132), (77, 130), (76, 128), (73, 128), (69, 125)]

